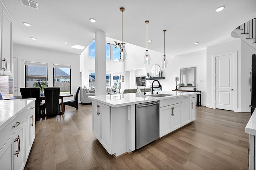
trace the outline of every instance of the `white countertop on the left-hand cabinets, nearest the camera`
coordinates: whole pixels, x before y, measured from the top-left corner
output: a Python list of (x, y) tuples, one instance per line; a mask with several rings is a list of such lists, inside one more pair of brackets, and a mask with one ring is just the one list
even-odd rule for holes
[(25, 110), (35, 99), (0, 100), (0, 130)]

